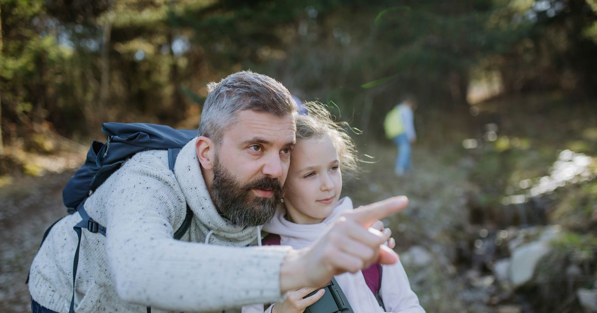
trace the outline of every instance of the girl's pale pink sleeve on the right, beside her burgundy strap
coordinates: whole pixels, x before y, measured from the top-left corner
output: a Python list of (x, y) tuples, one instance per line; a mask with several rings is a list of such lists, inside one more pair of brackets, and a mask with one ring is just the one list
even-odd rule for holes
[(400, 261), (383, 265), (380, 295), (386, 312), (425, 313), (418, 303), (417, 295), (411, 290), (407, 273)]

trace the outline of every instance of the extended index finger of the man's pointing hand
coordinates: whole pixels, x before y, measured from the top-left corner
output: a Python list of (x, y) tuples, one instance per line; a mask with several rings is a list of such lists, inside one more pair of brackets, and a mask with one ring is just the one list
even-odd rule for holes
[(391, 197), (380, 202), (371, 203), (359, 207), (349, 213), (349, 218), (364, 227), (370, 227), (378, 219), (383, 219), (393, 213), (404, 210), (408, 205), (408, 198), (405, 196)]

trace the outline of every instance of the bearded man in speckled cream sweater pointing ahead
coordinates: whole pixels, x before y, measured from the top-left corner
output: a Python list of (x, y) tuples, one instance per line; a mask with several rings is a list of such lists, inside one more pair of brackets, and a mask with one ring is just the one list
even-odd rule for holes
[[(275, 302), (332, 275), (396, 261), (367, 230), (406, 206), (405, 197), (341, 218), (302, 250), (246, 248), (282, 199), (295, 142), (296, 104), (276, 80), (239, 72), (208, 85), (198, 137), (168, 169), (165, 151), (128, 160), (85, 202), (106, 237), (84, 231), (75, 283), (76, 312), (205, 311)], [(193, 211), (180, 241), (173, 230)], [(78, 213), (61, 219), (33, 260), (32, 308), (69, 311)], [(199, 243), (199, 244), (198, 244)], [(153, 312), (153, 311), (152, 311)]]

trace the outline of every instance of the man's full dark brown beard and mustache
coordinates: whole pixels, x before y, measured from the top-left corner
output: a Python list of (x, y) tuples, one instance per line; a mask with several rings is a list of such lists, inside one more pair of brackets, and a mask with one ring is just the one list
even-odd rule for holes
[[(251, 189), (272, 190), (269, 198), (257, 197)], [(230, 172), (216, 160), (211, 196), (220, 215), (232, 224), (247, 227), (263, 225), (273, 218), (276, 207), (283, 197), (282, 185), (278, 178), (263, 176), (247, 185), (239, 184)]]

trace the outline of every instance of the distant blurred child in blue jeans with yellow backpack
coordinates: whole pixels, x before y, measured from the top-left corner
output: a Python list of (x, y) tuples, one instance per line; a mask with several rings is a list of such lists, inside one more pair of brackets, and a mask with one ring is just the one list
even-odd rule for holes
[(413, 168), (411, 144), (417, 140), (417, 134), (414, 131), (414, 110), (416, 109), (417, 99), (413, 95), (407, 95), (402, 103), (396, 104), (387, 113), (383, 122), (386, 137), (398, 147), (394, 165), (394, 173), (398, 176), (404, 175)]

